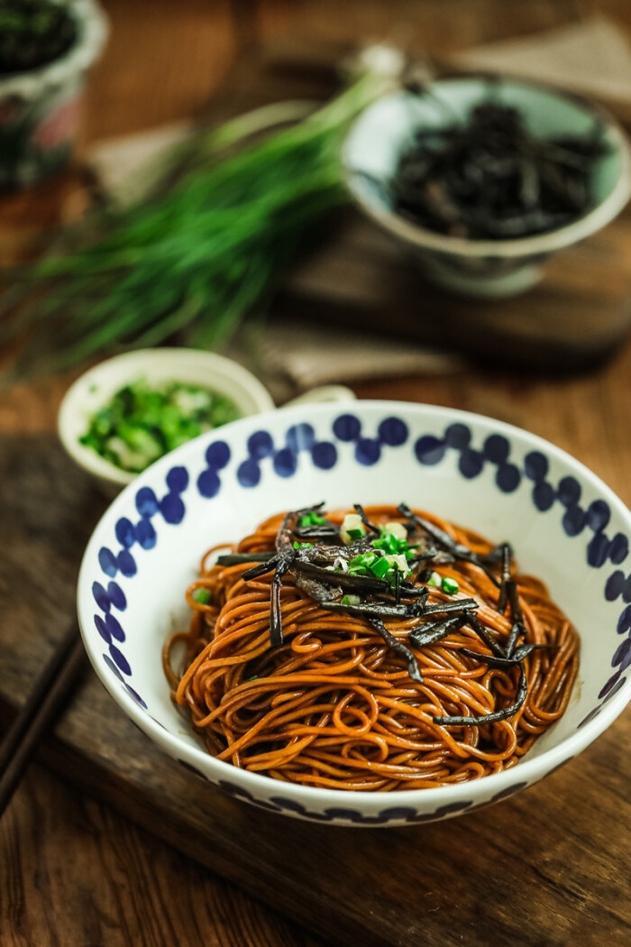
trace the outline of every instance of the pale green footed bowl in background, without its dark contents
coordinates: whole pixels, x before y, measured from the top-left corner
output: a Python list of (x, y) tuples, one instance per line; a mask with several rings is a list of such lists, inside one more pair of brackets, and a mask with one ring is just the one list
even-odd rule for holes
[(397, 92), (378, 99), (351, 127), (342, 167), (361, 209), (412, 250), (433, 282), (464, 295), (508, 296), (534, 285), (553, 251), (583, 240), (620, 213), (631, 195), (631, 152), (618, 122), (587, 99), (543, 83), (497, 81), (494, 101), (517, 108), (531, 133), (541, 138), (587, 135), (595, 122), (602, 124), (610, 153), (596, 165), (593, 208), (549, 233), (497, 241), (449, 237), (396, 213), (389, 182), (413, 134), (464, 121), (488, 88), (488, 77), (451, 78), (432, 82), (431, 95)]

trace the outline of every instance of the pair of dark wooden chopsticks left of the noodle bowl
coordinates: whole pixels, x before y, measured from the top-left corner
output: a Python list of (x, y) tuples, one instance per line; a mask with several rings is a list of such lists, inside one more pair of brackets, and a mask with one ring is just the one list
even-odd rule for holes
[(9, 805), (41, 737), (70, 696), (84, 665), (85, 651), (75, 622), (0, 743), (0, 816)]

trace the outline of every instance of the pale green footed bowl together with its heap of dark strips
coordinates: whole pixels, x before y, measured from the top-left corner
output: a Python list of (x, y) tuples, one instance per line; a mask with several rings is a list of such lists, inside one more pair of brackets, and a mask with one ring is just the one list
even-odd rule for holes
[(533, 286), (553, 252), (620, 213), (630, 153), (618, 122), (585, 98), (464, 76), (377, 100), (347, 134), (342, 167), (359, 207), (433, 282), (500, 297)]

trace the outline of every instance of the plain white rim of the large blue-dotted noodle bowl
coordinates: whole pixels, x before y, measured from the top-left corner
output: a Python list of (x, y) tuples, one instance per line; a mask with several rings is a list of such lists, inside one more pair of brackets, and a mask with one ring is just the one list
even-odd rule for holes
[[(350, 407), (350, 405), (349, 405)], [(605, 502), (621, 516), (625, 526), (631, 534), (631, 511), (627, 509), (622, 500), (614, 493), (596, 474), (592, 473), (581, 461), (571, 456), (567, 451), (556, 447), (551, 441), (540, 438), (538, 435), (531, 434), (529, 431), (519, 428), (516, 425), (505, 421), (495, 420), (485, 415), (474, 412), (463, 411), (455, 408), (448, 408), (439, 405), (417, 403), (417, 402), (396, 402), (365, 400), (353, 402), (353, 411), (359, 415), (367, 412), (372, 415), (380, 413), (395, 414), (403, 412), (407, 415), (416, 415), (419, 419), (429, 416), (433, 419), (445, 419), (451, 422), (461, 421), (466, 424), (482, 425), (487, 428), (488, 434), (500, 433), (507, 438), (514, 438), (519, 446), (529, 449), (538, 449), (547, 456), (555, 459), (563, 466), (570, 468), (572, 473), (578, 474), (581, 479), (597, 492), (599, 498), (605, 499)], [(251, 418), (243, 418), (232, 421), (221, 428), (221, 438), (238, 438), (241, 432), (250, 432), (253, 427), (265, 428), (267, 423), (272, 423), (273, 427), (287, 421), (288, 426), (291, 423), (315, 420), (321, 417), (333, 419), (336, 414), (343, 412), (344, 408), (340, 404), (308, 404), (296, 405), (295, 407), (275, 409), (265, 414), (256, 415)], [(184, 761), (185, 765), (191, 766), (199, 775), (206, 778), (211, 783), (219, 783), (226, 780), (237, 793), (243, 795), (252, 795), (253, 801), (258, 796), (269, 795), (273, 789), (282, 790), (283, 795), (297, 803), (311, 803), (312, 805), (328, 805), (348, 807), (349, 805), (359, 806), (364, 812), (376, 812), (383, 809), (386, 800), (395, 801), (397, 806), (412, 806), (422, 804), (422, 809), (426, 810), (433, 805), (440, 806), (441, 803), (452, 802), (454, 804), (462, 803), (468, 798), (476, 796), (488, 796), (495, 791), (495, 797), (509, 795), (511, 788), (522, 788), (526, 785), (532, 785), (541, 777), (549, 775), (553, 769), (563, 765), (565, 762), (573, 759), (578, 753), (596, 740), (607, 727), (620, 716), (622, 710), (631, 701), (631, 676), (624, 682), (624, 685), (611, 700), (602, 706), (598, 716), (588, 719), (585, 725), (582, 725), (575, 733), (566, 737), (562, 742), (545, 750), (540, 756), (534, 759), (528, 757), (519, 761), (518, 765), (504, 770), (501, 773), (485, 776), (480, 779), (469, 780), (464, 783), (441, 786), (432, 789), (412, 789), (401, 790), (394, 793), (379, 792), (357, 792), (352, 790), (329, 790), (320, 789), (311, 786), (303, 786), (298, 783), (283, 782), (260, 775), (250, 773), (239, 769), (231, 763), (215, 759), (206, 753), (201, 746), (191, 745), (184, 742), (180, 737), (168, 731), (162, 724), (158, 724), (143, 710), (132, 697), (120, 687), (118, 682), (114, 681), (113, 675), (106, 672), (103, 663), (100, 660), (100, 648), (96, 649), (93, 644), (93, 635), (86, 631), (90, 624), (88, 616), (93, 611), (92, 604), (85, 609), (86, 621), (85, 627), (82, 619), (83, 608), (81, 600), (85, 598), (86, 603), (91, 602), (90, 587), (94, 578), (94, 561), (96, 559), (97, 546), (101, 543), (99, 533), (108, 524), (111, 524), (114, 531), (114, 523), (120, 512), (128, 504), (131, 494), (143, 486), (143, 480), (147, 474), (167, 474), (168, 470), (178, 461), (185, 465), (186, 458), (191, 453), (197, 453), (205, 449), (208, 442), (217, 437), (217, 431), (210, 431), (199, 438), (188, 441), (167, 456), (161, 457), (143, 474), (129, 484), (105, 510), (99, 519), (92, 536), (86, 545), (85, 552), (79, 569), (78, 580), (78, 613), (79, 627), (83, 638), (83, 643), (96, 674), (102, 684), (108, 690), (114, 701), (131, 718), (131, 721), (143, 730), (158, 745), (168, 747), (167, 752), (175, 759)], [(518, 786), (516, 784), (518, 783)]]

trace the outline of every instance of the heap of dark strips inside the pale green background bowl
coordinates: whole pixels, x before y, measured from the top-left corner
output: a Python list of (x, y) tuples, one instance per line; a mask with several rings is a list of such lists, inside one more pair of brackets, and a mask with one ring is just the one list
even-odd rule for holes
[(394, 207), (429, 230), (467, 240), (555, 230), (594, 205), (592, 177), (608, 152), (603, 132), (595, 122), (583, 137), (540, 138), (517, 109), (489, 95), (464, 122), (416, 133), (390, 182)]

